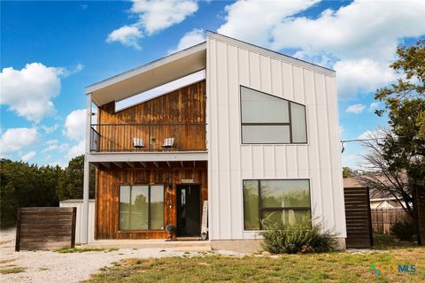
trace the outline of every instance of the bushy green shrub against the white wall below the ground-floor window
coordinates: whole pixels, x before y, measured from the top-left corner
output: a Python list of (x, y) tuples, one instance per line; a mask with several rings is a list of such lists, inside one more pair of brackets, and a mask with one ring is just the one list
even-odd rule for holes
[(303, 218), (294, 224), (263, 224), (266, 231), (263, 248), (273, 254), (295, 254), (332, 250), (335, 233), (323, 230), (321, 224), (312, 226), (311, 218)]

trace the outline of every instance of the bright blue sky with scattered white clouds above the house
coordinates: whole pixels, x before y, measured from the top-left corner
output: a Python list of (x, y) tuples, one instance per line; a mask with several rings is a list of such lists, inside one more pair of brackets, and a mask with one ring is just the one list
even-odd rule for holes
[[(386, 125), (374, 90), (398, 44), (423, 38), (423, 2), (1, 2), (0, 155), (66, 165), (83, 152), (84, 87), (217, 31), (337, 72), (342, 139)], [(397, 15), (397, 17), (395, 17)], [(362, 152), (347, 144), (343, 164)]]

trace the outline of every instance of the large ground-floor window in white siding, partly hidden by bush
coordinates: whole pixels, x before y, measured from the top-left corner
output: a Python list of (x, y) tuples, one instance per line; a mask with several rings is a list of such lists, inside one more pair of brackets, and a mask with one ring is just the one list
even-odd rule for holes
[(243, 229), (311, 216), (309, 180), (243, 180)]

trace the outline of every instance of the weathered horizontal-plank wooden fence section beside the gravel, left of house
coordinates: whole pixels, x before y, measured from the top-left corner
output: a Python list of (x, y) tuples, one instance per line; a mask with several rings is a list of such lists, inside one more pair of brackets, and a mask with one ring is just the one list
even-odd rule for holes
[(73, 248), (75, 218), (72, 207), (20, 208), (15, 250)]

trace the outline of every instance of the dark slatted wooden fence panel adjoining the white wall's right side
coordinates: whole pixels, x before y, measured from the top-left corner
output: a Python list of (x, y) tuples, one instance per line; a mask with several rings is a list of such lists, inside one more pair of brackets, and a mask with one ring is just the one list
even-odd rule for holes
[(344, 187), (347, 248), (370, 248), (374, 245), (367, 187)]

